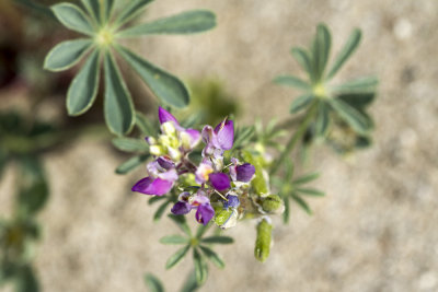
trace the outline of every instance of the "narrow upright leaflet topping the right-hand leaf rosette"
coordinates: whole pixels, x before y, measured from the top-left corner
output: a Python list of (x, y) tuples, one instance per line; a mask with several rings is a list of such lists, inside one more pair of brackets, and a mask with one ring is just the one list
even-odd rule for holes
[(330, 47), (332, 38), (327, 26), (324, 24), (319, 24), (316, 27), (316, 37), (313, 43), (312, 54), (313, 54), (313, 75), (315, 80), (321, 80), (325, 66), (328, 60)]

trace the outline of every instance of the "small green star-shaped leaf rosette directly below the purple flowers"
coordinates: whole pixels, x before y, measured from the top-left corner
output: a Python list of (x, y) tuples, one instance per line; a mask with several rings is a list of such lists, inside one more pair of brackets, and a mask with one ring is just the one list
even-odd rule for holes
[(174, 267), (188, 254), (188, 250), (192, 249), (195, 277), (197, 283), (200, 285), (208, 277), (207, 259), (218, 268), (224, 267), (221, 257), (209, 246), (212, 244), (231, 244), (233, 240), (229, 236), (221, 235), (204, 236), (211, 223), (199, 225), (196, 234), (193, 235), (184, 215), (170, 214), (169, 218), (184, 232), (184, 235), (169, 235), (160, 240), (162, 244), (183, 245), (182, 248), (168, 259), (165, 268), (170, 269)]

